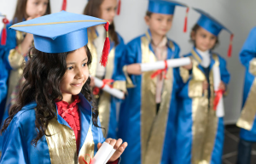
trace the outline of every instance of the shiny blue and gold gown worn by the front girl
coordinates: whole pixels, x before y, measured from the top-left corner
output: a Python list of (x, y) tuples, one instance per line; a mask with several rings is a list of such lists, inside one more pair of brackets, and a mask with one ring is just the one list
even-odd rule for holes
[[(81, 99), (79, 103), (81, 122), (79, 153), (83, 151), (83, 156), (89, 154), (93, 157), (97, 150), (96, 145), (104, 141), (102, 129), (93, 126), (91, 105), (87, 99), (82, 94), (79, 94), (79, 99)], [(37, 146), (32, 145), (32, 139), (37, 136), (36, 106), (35, 102), (24, 106), (3, 133), (0, 163), (78, 163), (73, 130), (59, 115), (49, 122), (46, 130), (49, 136), (40, 139)], [(98, 124), (100, 125), (100, 122)]]

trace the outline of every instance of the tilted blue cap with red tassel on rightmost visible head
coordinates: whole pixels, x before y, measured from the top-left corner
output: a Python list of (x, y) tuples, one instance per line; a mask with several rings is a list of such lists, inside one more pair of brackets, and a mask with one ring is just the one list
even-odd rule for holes
[(199, 9), (199, 8), (193, 8), (196, 12), (201, 14), (200, 19), (197, 21), (197, 25), (200, 25), (203, 29), (209, 31), (214, 36), (218, 36), (219, 32), (222, 30), (228, 31), (230, 33), (230, 47), (228, 50), (228, 56), (231, 56), (232, 51), (232, 40), (234, 37), (234, 34), (226, 28), (224, 25), (219, 23), (218, 20), (215, 20), (210, 14), (207, 14), (205, 11)]

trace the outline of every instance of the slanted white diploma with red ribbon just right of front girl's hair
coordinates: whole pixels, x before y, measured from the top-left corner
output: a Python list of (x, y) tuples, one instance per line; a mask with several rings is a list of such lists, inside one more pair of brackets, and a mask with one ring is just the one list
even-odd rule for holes
[[(97, 88), (102, 88), (102, 85), (103, 85), (102, 80), (94, 77), (94, 82), (95, 82), (95, 86)], [(125, 97), (125, 93), (119, 91), (116, 88), (110, 88), (108, 85), (105, 85), (104, 88), (102, 88), (102, 90), (105, 91), (106, 93), (113, 95), (114, 97), (116, 97), (118, 99), (123, 99)]]

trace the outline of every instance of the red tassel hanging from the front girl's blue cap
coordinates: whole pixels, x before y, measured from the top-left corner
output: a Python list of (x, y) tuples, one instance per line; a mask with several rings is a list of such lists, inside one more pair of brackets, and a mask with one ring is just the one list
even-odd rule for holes
[(109, 23), (107, 21), (107, 23), (104, 25), (104, 28), (107, 32), (106, 40), (104, 42), (104, 48), (102, 50), (102, 59), (100, 60), (101, 65), (104, 66), (104, 67), (108, 63), (108, 53), (109, 53), (109, 50), (110, 50), (110, 42), (109, 42), (109, 37), (108, 37), (108, 26), (109, 26)]

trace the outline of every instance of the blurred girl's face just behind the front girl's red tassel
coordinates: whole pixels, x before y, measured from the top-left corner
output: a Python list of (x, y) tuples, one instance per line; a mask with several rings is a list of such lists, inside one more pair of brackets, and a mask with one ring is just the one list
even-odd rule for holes
[(108, 20), (111, 24), (116, 13), (117, 0), (103, 0), (100, 8), (102, 14), (101, 19)]

